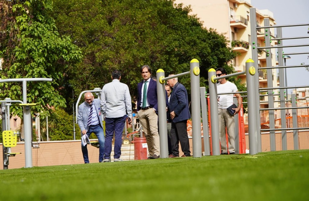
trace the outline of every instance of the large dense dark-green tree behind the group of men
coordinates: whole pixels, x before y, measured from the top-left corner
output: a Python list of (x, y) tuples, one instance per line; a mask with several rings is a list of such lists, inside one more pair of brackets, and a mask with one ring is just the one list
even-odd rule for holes
[[(51, 15), (59, 32), (70, 35), (84, 56), (68, 69), (65, 82), (79, 94), (110, 82), (111, 72), (118, 69), (134, 100), (144, 64), (153, 75), (161, 68), (167, 76), (189, 71), (189, 62), (196, 58), (201, 86), (206, 87), (210, 68), (233, 72), (229, 64), (236, 53), (227, 47), (226, 38), (203, 28), (196, 16), (188, 15), (190, 11), (173, 0), (54, 0)], [(189, 77), (180, 82), (190, 93)]]

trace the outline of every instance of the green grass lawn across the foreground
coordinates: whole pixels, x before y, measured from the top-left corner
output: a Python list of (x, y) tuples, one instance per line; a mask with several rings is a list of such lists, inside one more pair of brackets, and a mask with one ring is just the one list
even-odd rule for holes
[(309, 150), (0, 170), (0, 200), (309, 200)]

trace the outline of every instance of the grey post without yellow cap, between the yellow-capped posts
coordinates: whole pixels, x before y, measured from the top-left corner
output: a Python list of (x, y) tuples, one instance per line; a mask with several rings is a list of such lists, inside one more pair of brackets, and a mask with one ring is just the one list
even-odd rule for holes
[(204, 134), (204, 156), (210, 156), (209, 146), (209, 134), (208, 134), (208, 114), (206, 104), (206, 88), (200, 87), (201, 92), (201, 110), (202, 110), (202, 122), (203, 122), (203, 134)]

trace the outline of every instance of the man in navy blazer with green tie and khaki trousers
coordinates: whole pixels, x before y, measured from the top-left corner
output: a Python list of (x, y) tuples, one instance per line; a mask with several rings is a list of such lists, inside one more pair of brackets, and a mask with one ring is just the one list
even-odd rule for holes
[[(137, 114), (144, 130), (148, 146), (148, 159), (160, 158), (160, 139), (158, 132), (158, 95), (157, 82), (150, 78), (149, 66), (140, 69), (143, 81), (138, 83)], [(145, 91), (144, 91), (144, 88)], [(144, 97), (144, 94), (146, 96)]]

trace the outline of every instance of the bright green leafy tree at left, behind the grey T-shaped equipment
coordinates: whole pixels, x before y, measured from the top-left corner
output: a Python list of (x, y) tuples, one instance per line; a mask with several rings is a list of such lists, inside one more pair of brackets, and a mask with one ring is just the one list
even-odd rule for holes
[[(1, 79), (52, 78), (53, 82), (28, 82), (27, 102), (38, 103), (33, 112), (53, 106), (65, 107), (60, 83), (68, 69), (82, 58), (69, 36), (59, 35), (49, 15), (52, 0), (16, 0), (0, 2)], [(22, 100), (22, 83), (0, 83), (0, 99)], [(11, 112), (23, 117), (21, 107)]]

